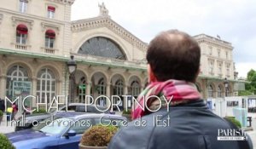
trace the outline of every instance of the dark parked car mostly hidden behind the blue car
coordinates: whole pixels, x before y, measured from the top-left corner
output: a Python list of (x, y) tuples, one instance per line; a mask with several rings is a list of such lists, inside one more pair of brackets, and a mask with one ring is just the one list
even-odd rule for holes
[[(70, 103), (68, 106), (61, 106), (59, 111), (65, 112), (67, 111), (73, 111), (73, 112), (93, 112), (93, 113), (110, 113), (113, 114), (113, 112), (106, 111), (106, 112), (101, 112), (104, 111), (106, 107), (104, 106), (86, 106), (86, 111), (85, 111), (85, 106), (84, 103)], [(51, 117), (52, 115), (55, 115), (56, 109), (52, 109), (48, 113), (36, 113), (36, 114), (31, 114), (31, 115), (26, 115), (22, 116), (17, 120), (17, 124), (15, 126), (15, 131), (19, 131), (22, 129), (31, 129), (33, 126), (37, 125), (38, 122), (43, 121), (44, 119)]]

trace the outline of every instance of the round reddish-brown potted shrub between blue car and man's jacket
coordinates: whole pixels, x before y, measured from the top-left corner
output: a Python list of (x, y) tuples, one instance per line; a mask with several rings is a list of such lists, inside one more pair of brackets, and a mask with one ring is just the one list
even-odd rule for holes
[(114, 127), (112, 125), (92, 126), (90, 129), (84, 132), (80, 143), (84, 146), (108, 146), (109, 141), (117, 132), (117, 130), (117, 127)]

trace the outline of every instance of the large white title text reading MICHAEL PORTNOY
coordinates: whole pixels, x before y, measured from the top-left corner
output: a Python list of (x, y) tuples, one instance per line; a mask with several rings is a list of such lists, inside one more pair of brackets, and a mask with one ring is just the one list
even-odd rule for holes
[[(156, 96), (156, 95), (150, 95), (148, 97), (143, 96), (142, 100), (143, 103), (140, 103), (139, 100), (137, 100), (134, 96), (131, 95), (121, 95), (122, 99), (119, 95), (112, 95), (110, 98), (106, 95), (99, 95), (96, 97), (96, 99), (91, 96), (91, 95), (85, 95), (85, 100), (84, 100), (84, 112), (87, 112), (87, 106), (95, 106), (96, 110), (98, 112), (107, 112), (107, 111), (111, 111), (113, 112), (113, 108), (116, 107), (116, 109), (121, 112), (121, 110), (119, 109), (119, 106), (124, 106), (124, 110), (127, 111), (128, 110), (128, 100), (130, 100), (131, 104), (132, 104), (132, 108), (134, 108), (137, 105), (137, 108), (141, 108), (143, 111), (147, 110), (149, 112), (157, 112), (160, 110), (162, 105), (166, 106), (166, 110), (167, 112), (169, 112), (169, 106), (171, 104), (172, 101), (172, 97), (170, 97), (170, 99), (166, 99), (166, 97), (164, 95), (162, 96)], [(154, 100), (159, 100), (159, 103), (161, 103), (156, 109), (150, 109), (148, 107), (147, 103), (148, 100), (154, 98)], [(96, 103), (98, 103), (98, 100), (106, 100), (107, 106), (106, 109), (100, 109), (97, 107)], [(67, 95), (56, 95), (54, 96), (52, 99), (49, 99), (45, 96), (44, 98), (44, 102), (40, 102), (40, 97), (34, 96), (34, 95), (27, 95), (26, 97), (23, 97), (20, 95), (18, 97), (16, 97), (15, 100), (10, 100), (7, 96), (5, 96), (5, 108), (7, 107), (8, 102), (10, 104), (13, 103), (18, 103), (19, 111), (22, 112), (23, 110), (26, 110), (26, 112), (35, 112), (39, 110), (42, 107), (44, 107), (46, 112), (50, 112), (52, 109), (55, 109), (56, 112), (63, 112), (59, 111), (61, 106), (65, 106), (66, 108), (64, 109), (65, 112), (73, 112), (73, 111), (68, 111), (67, 109), (67, 105), (68, 105), (68, 96)], [(31, 103), (33, 102), (33, 100), (36, 100), (35, 105), (37, 106), (37, 108), (34, 109), (30, 109), (27, 107), (26, 102), (30, 101)], [(64, 102), (63, 102), (64, 101)], [(125, 103), (124, 103), (125, 102)], [(6, 109), (5, 109), (6, 110)]]

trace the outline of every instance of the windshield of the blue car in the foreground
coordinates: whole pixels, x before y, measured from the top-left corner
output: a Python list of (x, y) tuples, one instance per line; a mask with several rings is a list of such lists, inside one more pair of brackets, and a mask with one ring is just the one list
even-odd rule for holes
[(58, 135), (62, 131), (68, 129), (73, 124), (73, 120), (66, 117), (49, 117), (42, 122), (39, 122), (38, 126), (34, 126), (32, 129), (41, 131), (45, 134)]

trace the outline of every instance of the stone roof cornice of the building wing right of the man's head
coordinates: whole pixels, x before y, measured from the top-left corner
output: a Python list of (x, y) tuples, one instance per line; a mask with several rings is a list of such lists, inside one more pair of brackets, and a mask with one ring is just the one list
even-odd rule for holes
[(216, 46), (219, 48), (225, 48), (230, 50), (233, 49), (231, 43), (225, 42), (224, 40), (221, 40), (216, 37), (210, 37), (205, 34), (200, 34), (200, 35), (194, 36), (194, 38), (198, 43), (207, 43), (209, 45)]

